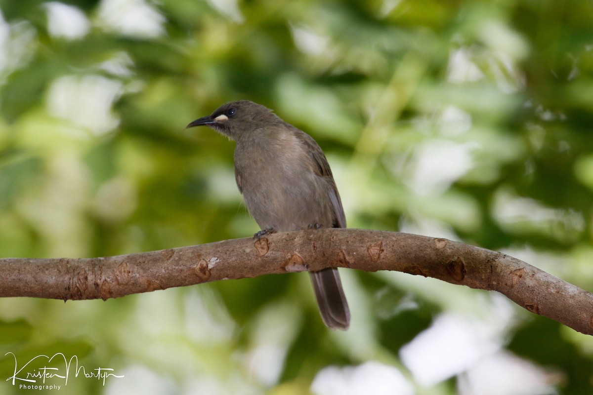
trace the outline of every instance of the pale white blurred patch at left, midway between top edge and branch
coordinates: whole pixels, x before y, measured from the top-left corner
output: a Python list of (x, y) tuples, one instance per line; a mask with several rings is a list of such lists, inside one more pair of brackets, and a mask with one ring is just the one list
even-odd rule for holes
[(49, 88), (47, 111), (99, 136), (119, 124), (111, 107), (121, 94), (121, 82), (103, 76), (63, 76)]

